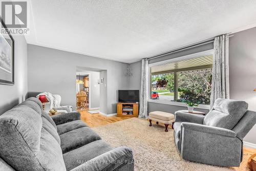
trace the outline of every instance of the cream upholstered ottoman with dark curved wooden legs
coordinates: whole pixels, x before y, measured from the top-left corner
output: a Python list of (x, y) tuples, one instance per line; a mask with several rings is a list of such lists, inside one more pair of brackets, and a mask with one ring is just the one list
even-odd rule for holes
[(165, 132), (168, 132), (168, 125), (174, 122), (174, 118), (175, 116), (171, 113), (154, 111), (150, 113), (150, 126), (152, 126), (152, 120), (156, 121), (157, 124), (161, 122), (165, 125)]

